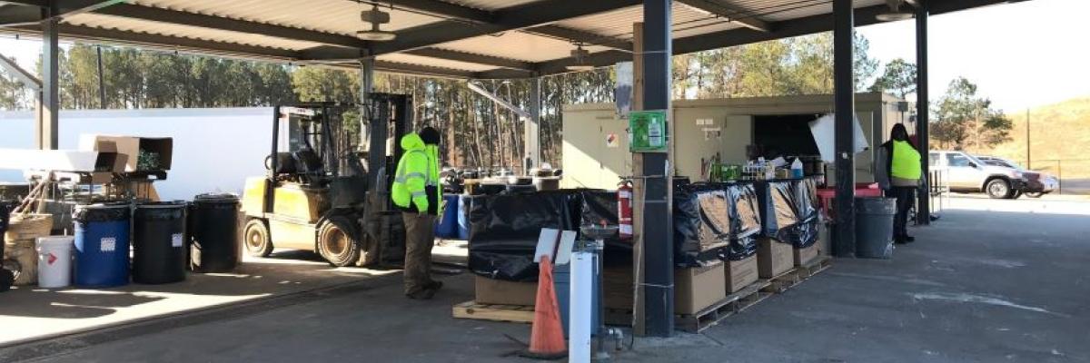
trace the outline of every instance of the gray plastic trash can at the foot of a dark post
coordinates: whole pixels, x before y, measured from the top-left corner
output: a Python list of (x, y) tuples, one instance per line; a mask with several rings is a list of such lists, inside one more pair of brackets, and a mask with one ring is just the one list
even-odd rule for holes
[(897, 199), (856, 197), (856, 257), (893, 257), (893, 218)]

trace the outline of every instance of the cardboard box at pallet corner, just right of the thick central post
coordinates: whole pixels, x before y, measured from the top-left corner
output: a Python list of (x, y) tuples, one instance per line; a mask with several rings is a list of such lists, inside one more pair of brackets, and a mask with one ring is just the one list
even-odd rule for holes
[(727, 297), (723, 263), (674, 270), (674, 312), (695, 314)]

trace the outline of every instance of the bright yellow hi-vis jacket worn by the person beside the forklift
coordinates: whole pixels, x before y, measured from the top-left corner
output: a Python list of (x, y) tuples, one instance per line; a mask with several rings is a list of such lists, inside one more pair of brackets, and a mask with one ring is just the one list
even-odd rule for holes
[(437, 215), (443, 201), (438, 147), (425, 145), (420, 135), (410, 133), (401, 137), (401, 148), (404, 155), (398, 160), (390, 189), (393, 204), (409, 211)]

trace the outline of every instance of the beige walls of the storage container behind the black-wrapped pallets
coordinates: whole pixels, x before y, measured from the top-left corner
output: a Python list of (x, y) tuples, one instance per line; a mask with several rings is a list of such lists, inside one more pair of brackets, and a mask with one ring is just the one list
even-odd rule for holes
[[(892, 96), (874, 93), (856, 97), (860, 125), (872, 147), (856, 159), (858, 182), (874, 180), (873, 147), (884, 141), (875, 131), (891, 128), (889, 109), (896, 101), (898, 99)], [(753, 116), (816, 116), (831, 112), (832, 104), (831, 95), (675, 101), (670, 121), (677, 174), (700, 180), (701, 159), (707, 160), (716, 153), (725, 162), (744, 162), (746, 146), (753, 140)], [(625, 131), (628, 123), (617, 120), (613, 110), (609, 104), (565, 106), (562, 186), (611, 189), (617, 185), (617, 176), (631, 173), (631, 154)], [(711, 120), (712, 124), (698, 120)], [(719, 132), (710, 133), (705, 129), (719, 129)], [(620, 147), (605, 147), (608, 133), (623, 136)], [(833, 178), (829, 180), (832, 182)]]

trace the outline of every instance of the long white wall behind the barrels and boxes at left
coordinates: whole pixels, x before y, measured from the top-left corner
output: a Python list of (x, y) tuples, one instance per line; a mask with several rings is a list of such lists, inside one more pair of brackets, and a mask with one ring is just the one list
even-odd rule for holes
[[(61, 111), (60, 147), (75, 149), (81, 134), (173, 137), (173, 162), (156, 182), (164, 199), (207, 192), (241, 193), (246, 177), (263, 176), (272, 137), (272, 109), (149, 109)], [(33, 148), (31, 112), (0, 111), (0, 148)], [(0, 170), (0, 182), (22, 182)]]

